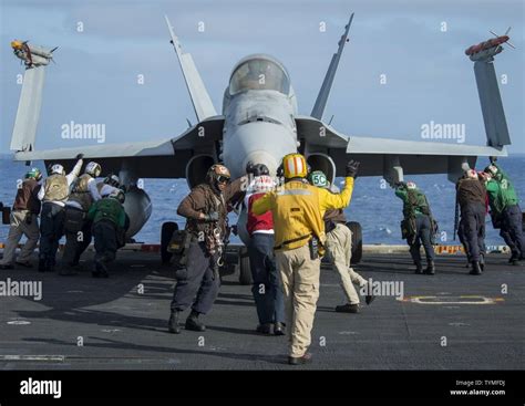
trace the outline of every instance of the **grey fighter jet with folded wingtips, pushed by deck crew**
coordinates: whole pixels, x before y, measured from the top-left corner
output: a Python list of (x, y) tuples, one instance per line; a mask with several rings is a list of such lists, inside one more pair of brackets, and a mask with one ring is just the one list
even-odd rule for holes
[[(403, 179), (403, 174), (447, 174), (455, 181), (465, 168), (474, 167), (478, 156), (507, 155), (505, 146), (511, 139), (491, 54), (475, 62), (486, 146), (361, 137), (338, 132), (322, 118), (348, 43), (353, 13), (344, 27), (310, 115), (298, 113), (297, 96), (285, 65), (266, 54), (246, 56), (234, 66), (224, 92), (222, 114), (217, 114), (192, 55), (183, 51), (168, 18), (165, 19), (197, 124), (173, 138), (34, 150), (35, 126), (24, 131), (20, 127), (32, 121), (40, 105), (22, 103), (28, 92), (24, 82), (11, 142), (17, 160), (43, 159), (47, 164), (71, 165), (73, 157), (83, 153), (86, 158), (100, 162), (105, 171), (117, 173), (130, 186), (125, 202), (132, 220), (128, 236), (136, 233), (151, 215), (150, 197), (136, 187), (140, 178), (186, 178), (188, 186), (194, 187), (217, 162), (223, 162), (234, 177), (244, 174), (248, 162), (266, 164), (275, 174), (282, 156), (300, 152), (312, 170), (322, 170), (333, 181), (336, 176), (343, 175), (344, 164), (353, 158), (361, 162), (360, 176), (383, 176), (393, 185)], [(238, 229), (246, 243), (245, 220), (245, 212), (241, 212)], [(169, 227), (163, 225), (163, 247), (173, 230)], [(353, 227), (354, 235), (359, 236), (359, 225)], [(361, 241), (354, 242), (359, 250)]]

